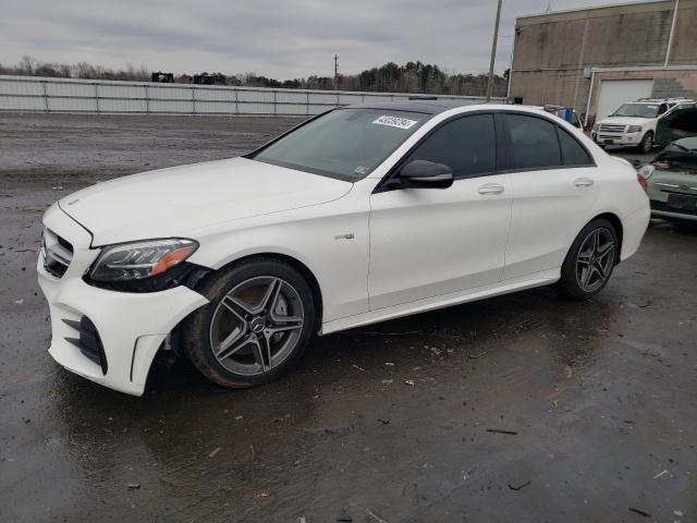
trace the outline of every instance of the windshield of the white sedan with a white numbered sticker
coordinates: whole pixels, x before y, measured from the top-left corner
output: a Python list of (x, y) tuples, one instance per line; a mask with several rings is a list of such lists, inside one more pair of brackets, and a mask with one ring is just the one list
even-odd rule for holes
[(337, 109), (248, 158), (354, 182), (367, 177), (430, 114)]

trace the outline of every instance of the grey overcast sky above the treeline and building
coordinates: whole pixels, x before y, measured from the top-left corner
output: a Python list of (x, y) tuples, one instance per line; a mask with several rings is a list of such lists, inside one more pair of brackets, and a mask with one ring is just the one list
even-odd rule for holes
[[(551, 0), (553, 11), (609, 3)], [(610, 2), (611, 3), (611, 2)], [(503, 0), (497, 71), (509, 66), (515, 17), (549, 0)], [(0, 0), (0, 63), (129, 63), (167, 72), (332, 75), (387, 61), (485, 72), (496, 0)]]

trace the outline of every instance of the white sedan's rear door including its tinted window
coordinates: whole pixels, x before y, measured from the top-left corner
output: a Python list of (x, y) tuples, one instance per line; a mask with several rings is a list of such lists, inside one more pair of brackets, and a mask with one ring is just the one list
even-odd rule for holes
[(514, 198), (504, 280), (561, 266), (598, 195), (598, 169), (572, 133), (525, 113), (506, 114), (505, 130)]

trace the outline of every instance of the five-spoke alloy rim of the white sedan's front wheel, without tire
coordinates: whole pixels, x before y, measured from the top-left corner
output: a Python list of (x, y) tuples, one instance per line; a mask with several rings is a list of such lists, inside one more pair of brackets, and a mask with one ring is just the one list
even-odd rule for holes
[(272, 276), (249, 278), (218, 303), (210, 348), (228, 370), (257, 376), (291, 355), (304, 325), (303, 302), (293, 285)]

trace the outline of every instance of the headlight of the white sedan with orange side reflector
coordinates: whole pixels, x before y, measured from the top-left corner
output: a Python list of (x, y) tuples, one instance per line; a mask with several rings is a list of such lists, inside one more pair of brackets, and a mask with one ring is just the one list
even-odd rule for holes
[(169, 239), (105, 247), (89, 271), (95, 281), (142, 280), (160, 275), (198, 248), (193, 240)]

